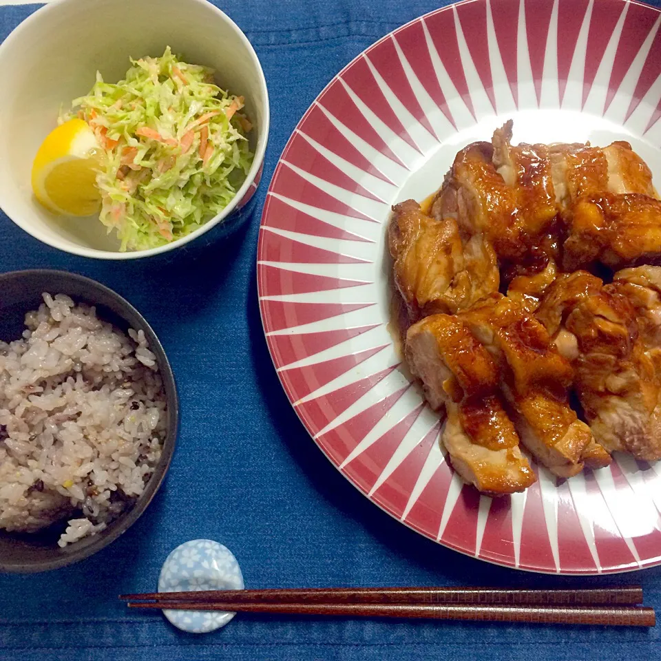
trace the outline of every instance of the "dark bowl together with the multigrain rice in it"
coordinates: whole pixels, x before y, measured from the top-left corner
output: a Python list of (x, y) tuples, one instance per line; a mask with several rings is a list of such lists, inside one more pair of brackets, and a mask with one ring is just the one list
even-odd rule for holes
[(0, 274), (0, 571), (87, 558), (145, 511), (178, 430), (165, 352), (120, 295)]

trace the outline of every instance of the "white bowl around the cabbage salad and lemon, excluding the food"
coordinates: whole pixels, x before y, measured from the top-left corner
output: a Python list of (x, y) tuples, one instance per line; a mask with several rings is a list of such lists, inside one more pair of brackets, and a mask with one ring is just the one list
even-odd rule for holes
[[(203, 227), (165, 246), (120, 253), (98, 220), (57, 217), (36, 202), (32, 160), (60, 108), (87, 94), (97, 70), (106, 81), (118, 81), (129, 56), (159, 56), (167, 45), (190, 63), (213, 67), (218, 85), (245, 97), (255, 158), (232, 202)], [(169, 251), (236, 212), (259, 183), (269, 136), (264, 72), (243, 32), (206, 0), (56, 0), (0, 45), (0, 90), (0, 207), (26, 232), (63, 251), (107, 260)]]

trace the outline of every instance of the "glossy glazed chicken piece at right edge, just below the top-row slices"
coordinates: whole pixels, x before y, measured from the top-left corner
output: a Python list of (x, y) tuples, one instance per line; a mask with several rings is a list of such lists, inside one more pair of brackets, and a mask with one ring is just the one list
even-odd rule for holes
[(566, 271), (601, 262), (611, 269), (661, 260), (661, 201), (641, 193), (581, 198), (568, 217)]

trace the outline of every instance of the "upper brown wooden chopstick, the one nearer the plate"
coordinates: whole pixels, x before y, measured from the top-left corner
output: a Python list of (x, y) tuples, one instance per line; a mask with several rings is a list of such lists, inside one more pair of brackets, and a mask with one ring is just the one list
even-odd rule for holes
[(335, 587), (312, 589), (208, 590), (123, 594), (127, 601), (186, 601), (306, 604), (490, 604), (490, 605), (636, 605), (642, 604), (642, 587), (631, 585), (602, 589), (494, 589), (488, 587)]

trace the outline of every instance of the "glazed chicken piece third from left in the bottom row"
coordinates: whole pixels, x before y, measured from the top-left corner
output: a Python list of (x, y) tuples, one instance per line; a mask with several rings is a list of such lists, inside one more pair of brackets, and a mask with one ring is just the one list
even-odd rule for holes
[(572, 361), (574, 386), (596, 441), (608, 452), (660, 459), (659, 379), (621, 286), (602, 286), (584, 271), (563, 275), (537, 316)]

